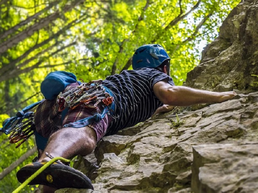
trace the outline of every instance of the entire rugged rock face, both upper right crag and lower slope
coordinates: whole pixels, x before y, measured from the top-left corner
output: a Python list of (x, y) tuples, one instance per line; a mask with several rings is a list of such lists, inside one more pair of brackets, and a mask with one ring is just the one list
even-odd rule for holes
[[(239, 94), (230, 101), (157, 115), (104, 137), (80, 164), (94, 191), (255, 192), (258, 190), (258, 2), (242, 1), (203, 51), (186, 86)], [(253, 86), (252, 86), (253, 85)], [(178, 118), (175, 113), (178, 114)]]

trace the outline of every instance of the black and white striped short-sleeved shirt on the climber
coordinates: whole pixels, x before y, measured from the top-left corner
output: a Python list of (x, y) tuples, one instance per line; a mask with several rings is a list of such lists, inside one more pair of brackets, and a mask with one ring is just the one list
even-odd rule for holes
[(109, 124), (106, 135), (113, 135), (118, 130), (150, 118), (163, 105), (153, 92), (153, 85), (162, 80), (175, 85), (171, 77), (153, 68), (125, 70), (121, 74), (108, 76), (103, 85), (114, 94), (114, 116), (117, 118)]

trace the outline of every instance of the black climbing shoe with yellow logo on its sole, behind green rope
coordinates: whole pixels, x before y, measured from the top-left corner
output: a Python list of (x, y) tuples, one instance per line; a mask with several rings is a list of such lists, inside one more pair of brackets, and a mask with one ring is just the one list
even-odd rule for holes
[[(31, 175), (39, 170), (47, 162), (33, 162), (22, 167), (16, 174), (20, 183), (23, 183)], [(82, 172), (71, 168), (62, 163), (49, 165), (36, 178), (34, 178), (28, 185), (46, 185), (52, 188), (78, 188), (78, 189), (92, 189), (90, 179)]]

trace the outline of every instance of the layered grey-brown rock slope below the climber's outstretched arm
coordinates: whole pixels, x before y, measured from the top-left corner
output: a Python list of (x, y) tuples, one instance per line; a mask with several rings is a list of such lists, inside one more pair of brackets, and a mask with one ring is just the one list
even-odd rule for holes
[(257, 98), (258, 92), (239, 95), (182, 114), (179, 127), (168, 113), (148, 120), (134, 136), (105, 137), (95, 151), (100, 168), (93, 192), (252, 192), (258, 179)]

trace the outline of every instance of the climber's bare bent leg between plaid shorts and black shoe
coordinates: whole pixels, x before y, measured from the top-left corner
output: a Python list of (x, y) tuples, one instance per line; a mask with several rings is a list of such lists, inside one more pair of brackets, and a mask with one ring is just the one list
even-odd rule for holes
[(53, 157), (73, 158), (76, 155), (90, 154), (97, 144), (96, 132), (86, 126), (81, 128), (62, 128), (50, 136), (48, 144), (39, 158), (39, 162), (50, 161), (48, 152)]

